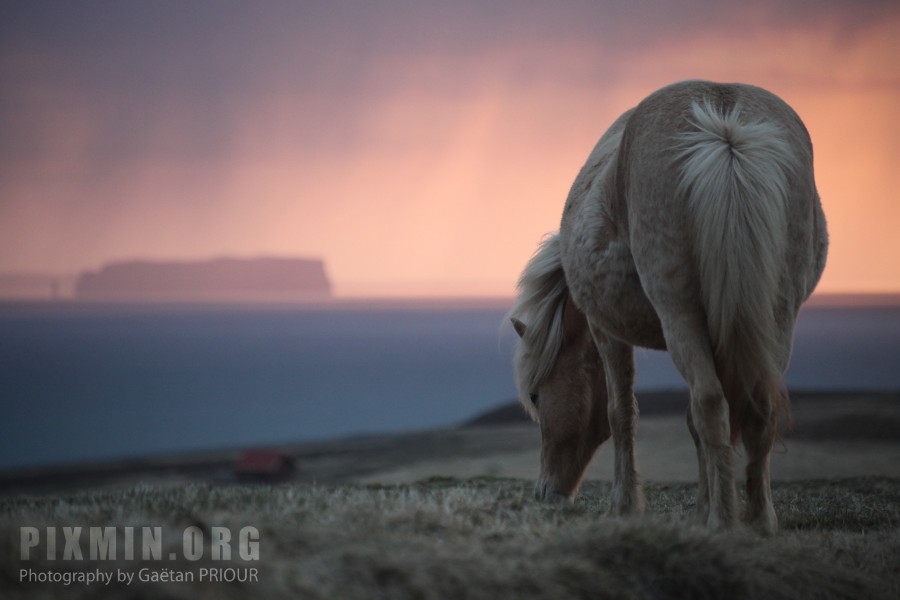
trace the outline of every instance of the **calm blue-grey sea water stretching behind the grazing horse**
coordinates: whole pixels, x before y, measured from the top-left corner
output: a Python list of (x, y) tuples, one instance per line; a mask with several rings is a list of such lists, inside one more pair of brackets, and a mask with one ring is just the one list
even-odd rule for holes
[[(515, 396), (502, 315), (0, 304), (0, 469), (453, 425)], [(804, 309), (787, 381), (900, 389), (900, 307)]]

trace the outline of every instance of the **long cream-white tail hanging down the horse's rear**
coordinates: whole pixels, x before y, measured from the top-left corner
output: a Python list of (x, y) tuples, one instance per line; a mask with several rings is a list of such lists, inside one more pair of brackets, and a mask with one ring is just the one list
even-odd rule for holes
[(680, 190), (736, 441), (748, 410), (773, 420), (787, 414), (775, 305), (796, 159), (775, 123), (748, 121), (738, 106), (692, 109), (693, 130), (680, 140)]

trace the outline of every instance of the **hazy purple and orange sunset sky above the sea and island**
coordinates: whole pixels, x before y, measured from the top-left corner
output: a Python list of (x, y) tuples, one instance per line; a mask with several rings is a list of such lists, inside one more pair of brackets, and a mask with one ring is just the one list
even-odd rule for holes
[(819, 290), (900, 292), (900, 3), (0, 0), (0, 273), (311, 256), (504, 296), (596, 140), (674, 81), (810, 131)]

